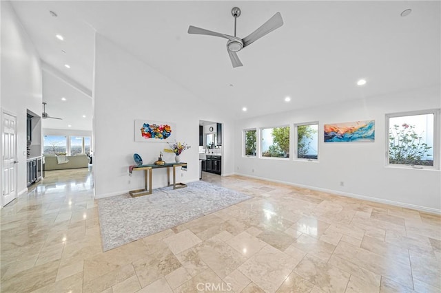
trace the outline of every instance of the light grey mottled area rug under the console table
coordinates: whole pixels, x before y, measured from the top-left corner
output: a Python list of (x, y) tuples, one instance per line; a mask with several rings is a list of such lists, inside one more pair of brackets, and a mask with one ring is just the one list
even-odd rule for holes
[[(251, 197), (207, 182), (190, 182), (187, 188), (154, 189), (152, 195), (128, 193), (98, 199), (103, 251), (184, 224)], [(195, 208), (196, 207), (196, 208)]]

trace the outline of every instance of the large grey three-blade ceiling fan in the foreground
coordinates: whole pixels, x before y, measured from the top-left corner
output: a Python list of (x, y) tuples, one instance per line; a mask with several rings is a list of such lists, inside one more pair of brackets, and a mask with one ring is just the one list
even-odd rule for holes
[(283, 19), (282, 19), (282, 15), (280, 15), (280, 12), (277, 12), (266, 23), (263, 23), (263, 25), (261, 25), (260, 28), (258, 28), (248, 36), (245, 36), (245, 38), (240, 39), (236, 36), (236, 19), (240, 16), (240, 9), (234, 7), (232, 9), (232, 14), (234, 17), (234, 36), (230, 36), (229, 34), (221, 34), (219, 32), (212, 32), (210, 30), (205, 30), (203, 28), (196, 28), (193, 25), (189, 26), (188, 33), (207, 34), (208, 36), (220, 36), (221, 38), (228, 39), (227, 51), (229, 54), (229, 58), (232, 61), (233, 67), (238, 67), (238, 66), (243, 66), (243, 64), (240, 62), (236, 52), (239, 52), (244, 47), (247, 47), (248, 45), (254, 43), (261, 37), (265, 36), (265, 34), (268, 34), (269, 32), (272, 32), (273, 30), (280, 28), (283, 25)]

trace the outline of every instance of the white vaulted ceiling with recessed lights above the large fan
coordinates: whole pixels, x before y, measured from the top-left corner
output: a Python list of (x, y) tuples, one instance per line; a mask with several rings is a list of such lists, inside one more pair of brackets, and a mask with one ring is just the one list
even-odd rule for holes
[[(12, 1), (12, 6), (48, 72), (70, 81), (83, 98), (92, 91), (95, 32), (236, 118), (440, 85), (439, 1)], [(284, 20), (238, 52), (244, 66), (236, 68), (226, 39), (187, 34), (189, 25), (234, 34), (234, 6), (242, 10), (237, 19), (242, 38), (276, 12)], [(411, 14), (400, 16), (406, 9)], [(360, 78), (367, 84), (356, 85)], [(48, 113), (51, 103), (57, 111), (79, 111), (50, 100), (68, 95), (62, 88), (43, 96)]]

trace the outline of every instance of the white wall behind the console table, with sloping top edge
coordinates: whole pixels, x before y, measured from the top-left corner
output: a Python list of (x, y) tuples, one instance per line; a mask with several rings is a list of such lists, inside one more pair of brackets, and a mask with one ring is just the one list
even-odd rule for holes
[[(181, 155), (188, 163), (186, 172), (178, 172), (178, 180), (192, 182), (199, 178), (199, 120), (224, 122), (222, 116), (205, 116), (206, 109), (215, 109), (170, 78), (128, 54), (100, 34), (96, 34), (94, 81), (94, 183), (97, 198), (126, 193), (143, 187), (143, 172), (128, 176), (139, 153), (145, 164), (157, 160), (167, 148), (165, 142), (134, 142), (134, 120), (147, 119), (176, 123), (176, 140), (187, 142), (191, 149)], [(201, 106), (203, 105), (203, 106)], [(203, 108), (205, 107), (205, 108)], [(213, 111), (215, 112), (215, 111)], [(202, 116), (204, 115), (204, 116)], [(225, 122), (224, 153), (226, 170), (233, 170), (234, 124)], [(172, 153), (164, 153), (165, 162), (174, 161)], [(183, 177), (181, 177), (183, 174)], [(153, 188), (165, 186), (165, 169), (153, 171)]]

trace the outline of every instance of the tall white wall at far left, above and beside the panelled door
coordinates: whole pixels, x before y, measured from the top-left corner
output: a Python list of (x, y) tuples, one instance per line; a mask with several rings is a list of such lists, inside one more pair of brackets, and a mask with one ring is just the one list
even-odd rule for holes
[[(41, 113), (42, 74), (39, 56), (10, 2), (1, 1), (0, 107), (17, 115), (17, 191), (26, 188), (26, 113)], [(1, 123), (1, 122), (0, 122)], [(2, 125), (0, 125), (2, 127)]]

